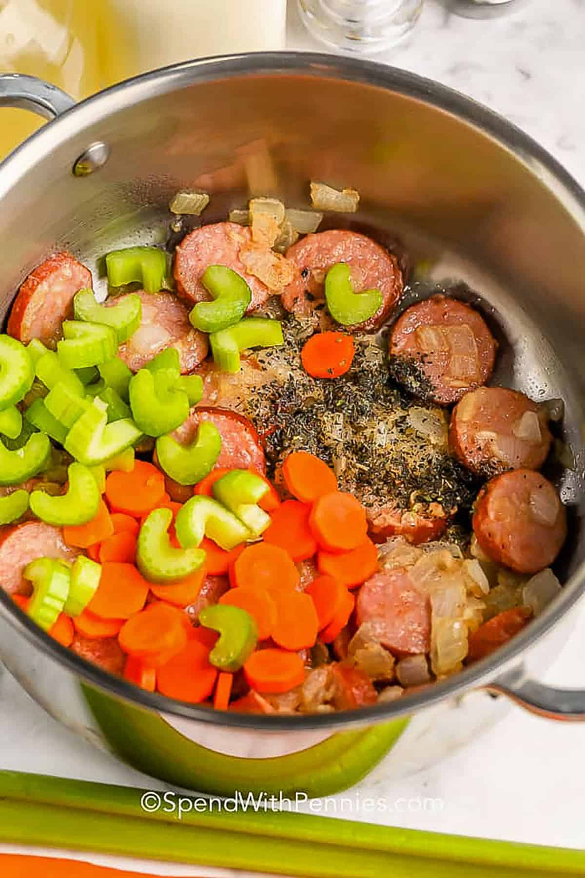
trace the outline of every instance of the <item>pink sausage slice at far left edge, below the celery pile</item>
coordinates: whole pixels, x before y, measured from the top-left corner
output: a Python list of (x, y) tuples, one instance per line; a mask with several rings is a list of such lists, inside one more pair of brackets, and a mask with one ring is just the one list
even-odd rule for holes
[(8, 594), (31, 594), (31, 583), (23, 578), (25, 566), (36, 558), (75, 561), (79, 550), (63, 541), (60, 528), (45, 522), (24, 522), (3, 528), (0, 534), (0, 587)]

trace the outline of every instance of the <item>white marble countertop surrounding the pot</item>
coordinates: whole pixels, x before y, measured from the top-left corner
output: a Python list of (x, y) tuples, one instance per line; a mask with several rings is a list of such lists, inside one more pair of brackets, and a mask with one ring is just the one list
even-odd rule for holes
[[(289, 11), (290, 48), (318, 49)], [(477, 21), (446, 13), (427, 0), (410, 44), (377, 60), (438, 79), (524, 128), (585, 184), (585, 4), (583, 0), (530, 0), (505, 18)], [(578, 612), (578, 611), (575, 611)], [(582, 637), (585, 608), (546, 680), (585, 685)], [(49, 719), (11, 680), (0, 679), (0, 766), (92, 781), (156, 784), (96, 752)], [(353, 817), (399, 826), (585, 847), (585, 726), (553, 723), (511, 709), (496, 728), (438, 766), (391, 788), (383, 764), (360, 794), (428, 796), (442, 810)], [(0, 846), (0, 851), (17, 850)], [(154, 864), (103, 856), (94, 862), (156, 874), (228, 875), (220, 870)], [(242, 873), (239, 873), (240, 875)]]

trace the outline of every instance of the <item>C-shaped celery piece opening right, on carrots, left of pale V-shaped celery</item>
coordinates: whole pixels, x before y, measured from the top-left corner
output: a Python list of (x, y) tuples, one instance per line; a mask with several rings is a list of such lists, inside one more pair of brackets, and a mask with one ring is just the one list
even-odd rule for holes
[(177, 549), (168, 537), (170, 509), (153, 509), (140, 528), (136, 553), (139, 571), (149, 582), (177, 582), (196, 572), (205, 561), (203, 549)]

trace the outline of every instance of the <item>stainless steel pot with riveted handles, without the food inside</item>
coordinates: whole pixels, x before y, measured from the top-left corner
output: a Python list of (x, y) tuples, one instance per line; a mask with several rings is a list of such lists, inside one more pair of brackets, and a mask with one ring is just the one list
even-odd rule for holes
[(0, 105), (55, 117), (0, 166), (3, 315), (54, 248), (70, 248), (97, 276), (108, 249), (165, 240), (168, 200), (182, 187), (214, 192), (212, 220), (250, 191), (300, 206), (310, 179), (351, 185), (367, 219), (434, 255), (437, 277), (464, 279), (489, 301), (507, 340), (497, 378), (532, 396), (562, 396), (577, 461), (561, 479), (572, 527), (562, 594), (505, 648), (434, 687), (354, 713), (213, 712), (86, 664), (19, 617), (0, 590), (0, 656), (32, 696), (133, 766), (230, 795), (325, 795), (389, 751), (387, 774), (420, 767), (485, 729), (505, 702), (495, 693), (553, 718), (585, 718), (585, 691), (531, 679), (566, 638), (585, 587), (585, 193), (557, 162), (456, 92), (331, 55), (195, 61), (77, 106), (45, 83), (2, 76)]

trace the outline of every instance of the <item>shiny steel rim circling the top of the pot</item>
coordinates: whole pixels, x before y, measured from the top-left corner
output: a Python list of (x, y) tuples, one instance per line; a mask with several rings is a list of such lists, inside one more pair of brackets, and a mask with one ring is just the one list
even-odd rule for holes
[[(128, 104), (138, 104), (150, 97), (186, 88), (192, 83), (217, 81), (236, 76), (317, 76), (358, 83), (371, 88), (395, 91), (404, 97), (412, 97), (435, 109), (446, 112), (460, 123), (472, 126), (499, 147), (512, 153), (517, 162), (524, 164), (532, 174), (539, 176), (541, 184), (560, 201), (575, 221), (581, 223), (585, 232), (585, 191), (566, 169), (546, 149), (503, 117), (492, 112), (472, 98), (445, 85), (399, 68), (389, 67), (377, 61), (366, 61), (325, 53), (313, 52), (261, 52), (223, 55), (185, 61), (182, 64), (154, 70), (118, 83), (110, 89), (75, 104), (68, 112), (43, 126), (31, 138), (18, 147), (0, 164), (0, 199), (5, 192), (18, 183), (32, 164), (50, 153), (55, 146), (66, 142), (72, 133), (85, 126), (94, 125), (123, 110)], [(410, 715), (418, 709), (428, 708), (460, 696), (464, 692), (485, 687), (496, 681), (510, 666), (517, 666), (517, 659), (526, 648), (534, 644), (567, 613), (585, 590), (585, 563), (563, 586), (562, 592), (546, 611), (534, 619), (526, 629), (493, 655), (478, 661), (448, 680), (435, 683), (413, 694), (403, 694), (396, 702), (378, 704), (358, 710), (338, 711), (333, 714), (306, 716), (263, 716), (218, 711), (177, 702), (164, 695), (149, 693), (132, 685), (123, 678), (115, 677), (81, 659), (32, 622), (0, 589), (0, 614), (32, 644), (57, 659), (61, 665), (89, 684), (104, 692), (122, 698), (126, 702), (146, 709), (153, 709), (170, 716), (216, 724), (227, 728), (257, 731), (304, 731), (340, 730), (369, 723), (389, 722), (400, 716)]]

